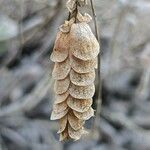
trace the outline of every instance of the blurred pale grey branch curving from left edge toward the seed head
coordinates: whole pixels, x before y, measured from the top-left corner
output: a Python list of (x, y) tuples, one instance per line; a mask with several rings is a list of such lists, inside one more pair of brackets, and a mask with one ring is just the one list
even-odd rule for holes
[(1, 108), (0, 117), (9, 116), (16, 112), (25, 112), (32, 110), (49, 92), (51, 84), (52, 80), (49, 81), (49, 76), (46, 76), (38, 83), (31, 94), (23, 97), (23, 99), (19, 102)]

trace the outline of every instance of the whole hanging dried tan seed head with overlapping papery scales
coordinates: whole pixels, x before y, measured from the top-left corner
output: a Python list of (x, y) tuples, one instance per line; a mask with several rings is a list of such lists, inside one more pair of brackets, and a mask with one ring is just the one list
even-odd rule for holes
[(60, 26), (51, 54), (56, 93), (51, 120), (59, 120), (60, 141), (79, 140), (87, 133), (85, 121), (94, 116), (91, 105), (100, 46), (88, 25), (90, 15), (78, 11), (86, 4), (86, 0), (67, 2), (70, 19)]

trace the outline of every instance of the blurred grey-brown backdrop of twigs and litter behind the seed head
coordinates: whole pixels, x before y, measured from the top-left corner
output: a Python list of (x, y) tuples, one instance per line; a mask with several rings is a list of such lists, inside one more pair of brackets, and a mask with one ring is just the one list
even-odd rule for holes
[[(102, 54), (100, 136), (58, 142), (57, 122), (49, 120), (54, 101), (49, 56), (68, 16), (65, 3), (0, 0), (0, 150), (150, 150), (149, 0), (95, 0)], [(90, 6), (85, 10), (91, 14)]]

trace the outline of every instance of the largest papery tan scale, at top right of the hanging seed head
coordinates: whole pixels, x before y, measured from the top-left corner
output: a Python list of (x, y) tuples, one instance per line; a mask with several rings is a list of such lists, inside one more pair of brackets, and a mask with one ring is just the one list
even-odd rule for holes
[(99, 53), (99, 43), (87, 23), (74, 23), (70, 30), (70, 50), (81, 60), (91, 60)]

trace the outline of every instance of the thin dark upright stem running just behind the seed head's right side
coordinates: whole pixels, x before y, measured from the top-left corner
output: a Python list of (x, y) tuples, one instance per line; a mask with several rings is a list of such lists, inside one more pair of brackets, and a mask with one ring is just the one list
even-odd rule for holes
[[(93, 13), (93, 19), (94, 19), (94, 26), (95, 26), (95, 34), (96, 34), (96, 38), (98, 40), (98, 42), (100, 42), (100, 37), (99, 37), (99, 32), (98, 32), (98, 23), (97, 23), (97, 16), (96, 16), (96, 12), (95, 12), (95, 8), (94, 8), (94, 4), (93, 4), (93, 0), (90, 0), (91, 2), (91, 8), (92, 8), (92, 13)], [(101, 85), (101, 54), (98, 55), (98, 86), (97, 86), (97, 100), (96, 100), (96, 119), (94, 121), (94, 128), (97, 127), (97, 120), (100, 117), (100, 112), (101, 112), (101, 89), (102, 89), (102, 85)]]

